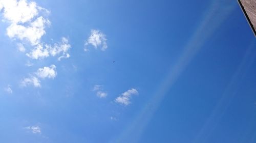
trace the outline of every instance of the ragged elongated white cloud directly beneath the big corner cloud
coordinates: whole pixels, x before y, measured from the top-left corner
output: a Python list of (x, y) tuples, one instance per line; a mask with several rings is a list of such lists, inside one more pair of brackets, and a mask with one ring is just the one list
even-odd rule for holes
[(71, 45), (69, 44), (69, 41), (67, 38), (62, 37), (60, 43), (55, 43), (53, 46), (46, 44), (44, 45), (38, 44), (37, 47), (33, 48), (30, 53), (27, 53), (26, 55), (29, 56), (31, 59), (44, 59), (48, 56), (56, 56), (59, 54), (62, 54), (59, 56), (58, 61), (60, 61), (62, 58), (69, 58), (70, 54), (68, 53), (68, 50), (71, 48)]

